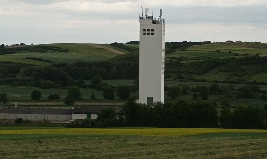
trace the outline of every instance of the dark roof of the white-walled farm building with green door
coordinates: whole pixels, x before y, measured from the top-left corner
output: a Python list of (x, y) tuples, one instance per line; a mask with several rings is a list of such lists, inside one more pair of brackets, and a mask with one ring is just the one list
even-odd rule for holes
[(100, 113), (102, 109), (113, 108), (116, 113), (121, 113), (122, 107), (112, 106), (76, 106), (73, 113)]

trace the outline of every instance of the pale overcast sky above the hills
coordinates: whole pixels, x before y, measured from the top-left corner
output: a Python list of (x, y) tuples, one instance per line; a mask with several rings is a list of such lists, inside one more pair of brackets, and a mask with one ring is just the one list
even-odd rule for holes
[[(0, 44), (139, 41), (141, 0), (0, 0)], [(267, 42), (266, 0), (144, 0), (166, 42)]]

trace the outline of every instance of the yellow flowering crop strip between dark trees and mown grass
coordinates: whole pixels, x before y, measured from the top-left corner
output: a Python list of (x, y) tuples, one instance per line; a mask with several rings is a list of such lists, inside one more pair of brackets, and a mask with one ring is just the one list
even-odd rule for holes
[(267, 130), (238, 130), (211, 128), (58, 128), (32, 130), (0, 130), (0, 134), (92, 134), (92, 135), (134, 135), (154, 137), (187, 137), (222, 132), (265, 132)]

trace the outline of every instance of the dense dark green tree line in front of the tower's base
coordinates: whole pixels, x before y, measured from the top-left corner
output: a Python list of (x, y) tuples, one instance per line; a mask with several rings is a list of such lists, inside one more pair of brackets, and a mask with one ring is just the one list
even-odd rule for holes
[(267, 106), (264, 108), (239, 106), (232, 112), (224, 108), (220, 112), (221, 116), (218, 116), (216, 105), (207, 101), (177, 100), (147, 106), (136, 103), (134, 98), (129, 98), (121, 114), (116, 114), (114, 109), (109, 108), (101, 110), (95, 121), (76, 120), (68, 127), (83, 125), (83, 127), (266, 129), (266, 111)]

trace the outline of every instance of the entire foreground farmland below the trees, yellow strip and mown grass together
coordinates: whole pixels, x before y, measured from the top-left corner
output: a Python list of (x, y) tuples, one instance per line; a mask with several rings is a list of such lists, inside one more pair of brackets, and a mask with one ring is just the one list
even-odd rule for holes
[[(12, 130), (0, 127), (0, 141), (4, 145), (0, 158), (241, 159), (267, 156), (265, 130), (9, 128)], [(25, 131), (31, 134), (23, 133)], [(43, 143), (38, 143), (37, 139)]]

